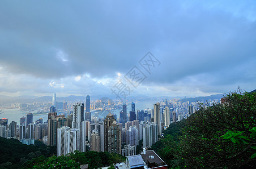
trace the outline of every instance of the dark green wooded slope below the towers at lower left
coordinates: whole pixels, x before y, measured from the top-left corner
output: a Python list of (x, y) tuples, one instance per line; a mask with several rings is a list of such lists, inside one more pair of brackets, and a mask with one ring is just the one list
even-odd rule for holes
[(36, 140), (36, 145), (26, 145), (16, 139), (0, 137), (0, 168), (89, 168), (110, 166), (124, 160), (122, 155), (108, 152), (75, 151), (56, 157), (56, 146), (46, 146)]

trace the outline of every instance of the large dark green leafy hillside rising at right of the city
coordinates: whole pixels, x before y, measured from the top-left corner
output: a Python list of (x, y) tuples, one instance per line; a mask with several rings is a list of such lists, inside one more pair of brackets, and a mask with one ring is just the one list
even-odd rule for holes
[(256, 94), (238, 90), (225, 98), (165, 131), (157, 153), (171, 168), (256, 167)]

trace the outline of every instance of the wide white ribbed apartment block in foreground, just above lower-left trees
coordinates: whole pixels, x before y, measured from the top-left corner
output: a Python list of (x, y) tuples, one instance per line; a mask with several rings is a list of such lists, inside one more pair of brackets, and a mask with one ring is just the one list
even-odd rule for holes
[(63, 126), (57, 132), (57, 156), (74, 153), (76, 150), (79, 130)]

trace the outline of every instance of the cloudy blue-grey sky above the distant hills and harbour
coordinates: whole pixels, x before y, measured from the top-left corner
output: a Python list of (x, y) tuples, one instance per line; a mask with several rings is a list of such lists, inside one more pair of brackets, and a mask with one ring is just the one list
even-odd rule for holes
[(1, 1), (0, 95), (252, 91), (255, 20), (254, 0)]

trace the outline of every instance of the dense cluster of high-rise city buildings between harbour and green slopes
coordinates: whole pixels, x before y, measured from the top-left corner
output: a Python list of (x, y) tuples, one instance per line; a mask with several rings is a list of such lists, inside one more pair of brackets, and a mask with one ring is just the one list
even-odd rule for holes
[(53, 95), (52, 106), (48, 113), (48, 121), (37, 119), (33, 122), (33, 114), (20, 118), (20, 125), (8, 119), (0, 120), (0, 136), (19, 139), (24, 144), (34, 144), (42, 140), (46, 145), (57, 146), (57, 155), (66, 155), (75, 150), (86, 152), (109, 152), (130, 156), (136, 154), (139, 140), (143, 140), (143, 148), (150, 148), (162, 131), (172, 122), (189, 117), (197, 108), (196, 104), (181, 103), (178, 100), (163, 100), (153, 104), (153, 109), (135, 110), (131, 103), (131, 111), (122, 104), (120, 118), (108, 113), (105, 118), (92, 118), (90, 97), (86, 104), (75, 103), (66, 115), (57, 115), (56, 95)]

